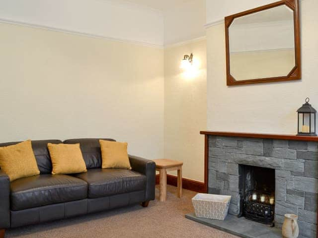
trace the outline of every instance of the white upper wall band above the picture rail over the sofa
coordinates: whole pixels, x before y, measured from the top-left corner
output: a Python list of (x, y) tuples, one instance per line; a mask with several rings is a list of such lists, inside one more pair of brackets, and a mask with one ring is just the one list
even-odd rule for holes
[(0, 0), (0, 21), (163, 46), (160, 11), (116, 0)]

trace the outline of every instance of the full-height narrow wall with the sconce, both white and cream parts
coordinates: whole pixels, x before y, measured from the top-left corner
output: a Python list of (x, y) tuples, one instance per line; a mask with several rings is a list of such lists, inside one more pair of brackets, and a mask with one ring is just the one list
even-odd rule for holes
[[(187, 0), (164, 13), (164, 158), (183, 161), (183, 178), (204, 180), (206, 127), (205, 0)], [(200, 61), (194, 75), (180, 69), (184, 55)], [(174, 172), (169, 174), (176, 175)]]

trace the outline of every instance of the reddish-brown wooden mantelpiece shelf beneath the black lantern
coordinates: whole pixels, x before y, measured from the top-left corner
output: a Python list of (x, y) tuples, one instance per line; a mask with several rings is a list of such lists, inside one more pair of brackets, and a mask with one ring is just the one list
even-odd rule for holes
[(261, 138), (261, 139), (277, 139), (277, 140), (305, 140), (318, 141), (318, 136), (302, 136), (302, 135), (284, 135), (284, 134), (258, 134), (258, 133), (242, 133), (242, 132), (225, 132), (225, 131), (200, 131), (202, 135), (222, 135), (235, 136), (247, 138)]

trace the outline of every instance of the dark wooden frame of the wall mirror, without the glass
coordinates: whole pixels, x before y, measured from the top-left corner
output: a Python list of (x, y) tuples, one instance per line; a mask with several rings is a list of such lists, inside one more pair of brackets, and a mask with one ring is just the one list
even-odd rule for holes
[[(251, 13), (259, 12), (262, 10), (270, 9), (276, 6), (286, 5), (294, 12), (294, 36), (295, 36), (295, 67), (290, 71), (287, 76), (270, 77), (270, 78), (258, 78), (247, 80), (235, 80), (230, 72), (230, 37), (229, 28), (235, 18), (245, 16)], [(226, 65), (227, 65), (227, 85), (241, 85), (251, 83), (267, 83), (267, 82), (279, 82), (301, 79), (301, 50), (300, 50), (300, 30), (299, 30), (299, 10), (298, 0), (281, 0), (268, 5), (256, 7), (247, 11), (243, 11), (231, 16), (225, 17), (225, 42), (226, 42)]]

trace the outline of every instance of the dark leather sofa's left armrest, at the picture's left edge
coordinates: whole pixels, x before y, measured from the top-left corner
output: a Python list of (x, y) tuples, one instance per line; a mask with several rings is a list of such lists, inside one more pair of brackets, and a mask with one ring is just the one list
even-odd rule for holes
[(0, 170), (0, 229), (10, 228), (10, 180)]

